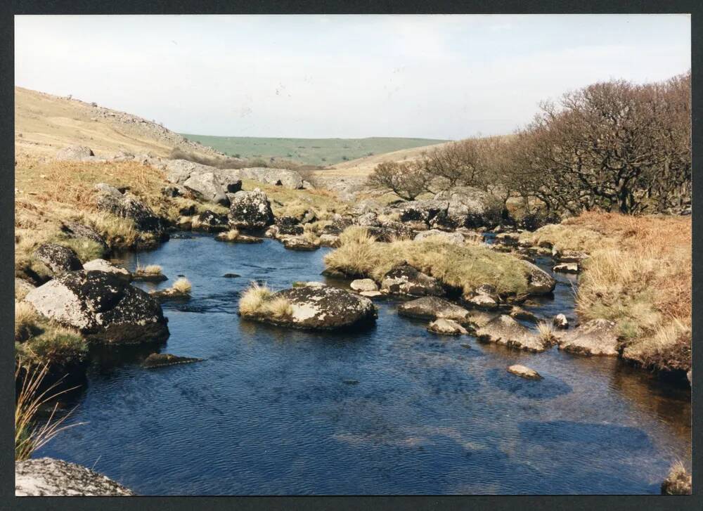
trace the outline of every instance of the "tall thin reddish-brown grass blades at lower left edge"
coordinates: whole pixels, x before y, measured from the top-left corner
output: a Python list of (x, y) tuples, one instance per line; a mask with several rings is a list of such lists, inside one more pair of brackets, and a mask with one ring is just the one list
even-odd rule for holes
[[(15, 460), (22, 461), (30, 458), (32, 453), (46, 442), (53, 439), (60, 432), (75, 427), (79, 423), (63, 425), (69, 418), (73, 410), (56, 418), (56, 403), (46, 422), (37, 423), (37, 413), (39, 410), (56, 399), (60, 394), (64, 394), (72, 389), (65, 389), (57, 392), (56, 387), (59, 382), (51, 385), (46, 390), (41, 391), (41, 384), (49, 370), (49, 364), (43, 366), (23, 369), (18, 365), (15, 369), (15, 381), (22, 380), (22, 387), (15, 402)], [(74, 387), (75, 388), (75, 387)]]

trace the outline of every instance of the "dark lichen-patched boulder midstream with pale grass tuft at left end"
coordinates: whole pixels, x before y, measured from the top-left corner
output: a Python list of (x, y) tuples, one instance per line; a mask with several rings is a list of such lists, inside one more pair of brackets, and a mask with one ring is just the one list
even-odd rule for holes
[(371, 324), (376, 309), (368, 298), (329, 286), (292, 287), (273, 294), (290, 303), (290, 316), (273, 316), (265, 311), (250, 317), (276, 325), (309, 330), (337, 330)]

